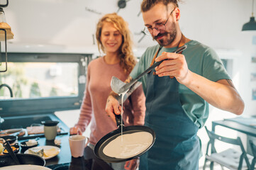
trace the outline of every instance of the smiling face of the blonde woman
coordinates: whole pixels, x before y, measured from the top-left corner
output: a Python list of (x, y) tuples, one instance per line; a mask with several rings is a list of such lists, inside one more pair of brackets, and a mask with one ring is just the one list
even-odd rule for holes
[(122, 41), (122, 35), (113, 26), (113, 23), (104, 23), (101, 30), (101, 43), (104, 47), (105, 52), (118, 52)]

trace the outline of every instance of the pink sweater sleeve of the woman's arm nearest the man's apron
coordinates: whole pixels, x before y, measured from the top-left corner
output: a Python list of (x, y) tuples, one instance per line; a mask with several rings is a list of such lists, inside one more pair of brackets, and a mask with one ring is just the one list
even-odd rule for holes
[(133, 107), (133, 125), (144, 125), (146, 107), (145, 95), (141, 84), (130, 94), (130, 99)]

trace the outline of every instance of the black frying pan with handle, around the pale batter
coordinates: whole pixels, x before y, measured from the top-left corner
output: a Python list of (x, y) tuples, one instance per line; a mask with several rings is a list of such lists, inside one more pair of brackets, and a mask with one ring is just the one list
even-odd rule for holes
[(106, 154), (104, 154), (103, 149), (104, 149), (104, 147), (106, 147), (106, 145), (108, 145), (109, 142), (116, 139), (116, 137), (121, 136), (121, 115), (116, 115), (116, 124), (118, 126), (118, 129), (113, 130), (112, 132), (109, 132), (107, 135), (102, 137), (101, 140), (99, 140), (99, 142), (97, 142), (94, 147), (94, 154), (99, 159), (102, 159), (105, 162), (126, 162), (128, 160), (140, 157), (140, 155), (147, 152), (148, 149), (150, 149), (150, 147), (152, 147), (152, 145), (154, 145), (154, 142), (155, 142), (154, 130), (152, 130), (146, 126), (143, 126), (143, 125), (132, 125), (132, 126), (127, 126), (127, 127), (123, 126), (123, 135), (131, 134), (134, 132), (149, 132), (153, 137), (152, 144), (147, 149), (145, 149), (143, 152), (135, 155), (134, 157), (130, 157), (130, 158), (126, 158), (126, 159), (118, 159), (118, 158), (114, 158), (114, 157), (108, 157)]

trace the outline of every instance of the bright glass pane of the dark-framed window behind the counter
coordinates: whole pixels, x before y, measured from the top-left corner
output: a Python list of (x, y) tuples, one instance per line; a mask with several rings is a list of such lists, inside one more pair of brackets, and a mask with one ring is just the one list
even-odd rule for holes
[(9, 62), (0, 75), (0, 99), (78, 96), (79, 64), (75, 62)]

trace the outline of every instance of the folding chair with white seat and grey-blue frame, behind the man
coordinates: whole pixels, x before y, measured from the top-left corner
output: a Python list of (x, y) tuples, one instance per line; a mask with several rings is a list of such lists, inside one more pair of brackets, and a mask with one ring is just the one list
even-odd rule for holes
[[(205, 158), (203, 169), (206, 169), (206, 162), (208, 161), (211, 162), (210, 164), (211, 170), (213, 169), (213, 162), (220, 164), (222, 169), (223, 169), (223, 166), (233, 170), (250, 168), (250, 160), (252, 160), (252, 156), (246, 154), (245, 148), (243, 147), (243, 143), (240, 137), (238, 137), (237, 139), (223, 137), (220, 135), (216, 135), (215, 132), (209, 131), (207, 128), (206, 128), (206, 132), (210, 140), (206, 148), (206, 158)], [(237, 151), (233, 148), (229, 148), (224, 150), (223, 152), (217, 152), (214, 146), (215, 140), (225, 142), (230, 145), (237, 145), (240, 147), (240, 151)], [(211, 145), (211, 154), (209, 154), (210, 145)], [(248, 157), (250, 157), (250, 159)]]

